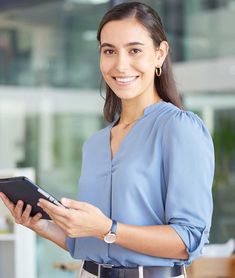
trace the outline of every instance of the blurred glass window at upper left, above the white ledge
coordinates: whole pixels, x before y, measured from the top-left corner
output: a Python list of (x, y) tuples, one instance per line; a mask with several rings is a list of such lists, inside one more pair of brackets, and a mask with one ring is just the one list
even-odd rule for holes
[[(0, 84), (98, 88), (106, 1), (48, 1), (0, 13)], [(94, 2), (95, 3), (95, 2)]]

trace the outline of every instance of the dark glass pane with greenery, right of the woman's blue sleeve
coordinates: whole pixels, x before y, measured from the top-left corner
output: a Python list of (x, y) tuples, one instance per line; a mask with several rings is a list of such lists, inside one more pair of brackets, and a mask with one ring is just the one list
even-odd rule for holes
[(211, 240), (225, 242), (235, 235), (235, 108), (215, 110), (213, 140), (216, 171)]

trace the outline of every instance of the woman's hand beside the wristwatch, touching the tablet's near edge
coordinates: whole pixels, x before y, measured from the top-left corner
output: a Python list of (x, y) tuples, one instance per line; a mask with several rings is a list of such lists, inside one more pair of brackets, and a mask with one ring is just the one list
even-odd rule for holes
[(63, 229), (67, 236), (92, 236), (103, 239), (110, 230), (112, 220), (99, 208), (67, 198), (63, 198), (61, 202), (66, 208), (56, 206), (44, 199), (39, 199), (38, 206), (50, 215), (54, 223)]

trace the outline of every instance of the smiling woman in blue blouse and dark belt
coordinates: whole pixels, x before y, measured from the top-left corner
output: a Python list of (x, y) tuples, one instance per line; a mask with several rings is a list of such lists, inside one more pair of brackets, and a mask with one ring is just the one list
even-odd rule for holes
[(20, 223), (76, 259), (79, 277), (186, 277), (211, 225), (214, 154), (202, 121), (180, 109), (169, 44), (154, 10), (107, 12), (98, 30), (110, 124), (83, 147), (79, 201), (39, 201), (53, 219), (6, 206)]

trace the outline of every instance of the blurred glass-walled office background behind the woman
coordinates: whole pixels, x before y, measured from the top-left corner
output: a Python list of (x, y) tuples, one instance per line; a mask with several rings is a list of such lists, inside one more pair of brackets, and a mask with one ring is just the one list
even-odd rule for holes
[[(124, 1), (0, 0), (0, 169), (33, 167), (59, 198), (76, 197), (82, 143), (105, 126), (96, 30), (115, 2)], [(235, 1), (143, 2), (163, 19), (185, 108), (213, 136), (210, 241), (226, 242), (235, 237)], [(66, 252), (40, 238), (36, 250), (38, 278), (74, 277), (53, 267), (71, 261)]]

